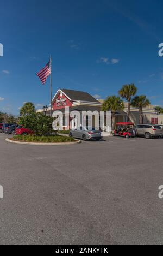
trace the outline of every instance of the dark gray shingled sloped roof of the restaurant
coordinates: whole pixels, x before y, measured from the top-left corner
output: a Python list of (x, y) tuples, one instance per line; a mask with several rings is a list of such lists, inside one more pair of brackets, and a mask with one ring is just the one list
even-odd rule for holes
[[(68, 89), (61, 89), (70, 99), (72, 100), (84, 100), (85, 102), (98, 102), (97, 99), (93, 98), (87, 92), (74, 91)], [(99, 103), (99, 102), (98, 102)]]

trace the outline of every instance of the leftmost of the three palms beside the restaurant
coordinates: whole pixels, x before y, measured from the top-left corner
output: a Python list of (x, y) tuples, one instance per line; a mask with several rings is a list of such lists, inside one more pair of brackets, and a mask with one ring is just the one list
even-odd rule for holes
[(111, 110), (112, 112), (112, 130), (115, 128), (115, 114), (116, 111), (122, 111), (124, 109), (123, 100), (119, 96), (109, 96), (106, 98), (102, 105), (103, 111)]

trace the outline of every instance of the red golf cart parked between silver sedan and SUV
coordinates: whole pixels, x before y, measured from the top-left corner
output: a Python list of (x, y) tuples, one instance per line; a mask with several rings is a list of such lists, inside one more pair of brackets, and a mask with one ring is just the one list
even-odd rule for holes
[(135, 130), (133, 129), (134, 123), (116, 123), (114, 136), (123, 136), (125, 138), (134, 138)]

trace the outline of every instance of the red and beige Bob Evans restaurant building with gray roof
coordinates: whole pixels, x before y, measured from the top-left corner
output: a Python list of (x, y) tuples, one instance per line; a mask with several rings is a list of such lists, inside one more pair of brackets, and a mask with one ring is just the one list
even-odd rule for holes
[[(63, 129), (69, 129), (69, 122), (67, 125), (67, 118), (65, 118), (65, 107), (69, 107), (69, 112), (78, 111), (80, 115), (83, 111), (100, 111), (102, 110), (102, 104), (104, 100), (95, 99), (87, 92), (69, 90), (69, 89), (59, 89), (52, 100), (52, 112), (61, 111), (62, 115), (62, 124)], [(43, 109), (37, 110), (37, 112), (43, 112)], [(127, 122), (127, 112), (128, 112), (128, 103), (124, 102), (124, 110), (121, 112), (116, 112), (116, 120), (115, 122)], [(50, 115), (50, 108), (47, 109), (46, 115)], [(82, 115), (81, 115), (82, 116)], [(89, 119), (89, 116), (86, 116)], [(93, 116), (91, 117), (93, 119)], [(103, 119), (103, 118), (102, 118)], [(71, 121), (71, 118), (70, 120)], [(130, 108), (130, 121), (139, 124), (139, 109)], [(103, 125), (101, 128), (103, 129), (103, 135), (107, 135), (110, 132), (110, 126), (106, 125), (106, 114), (104, 117)], [(82, 124), (81, 119), (81, 124)], [(143, 108), (143, 123), (163, 123), (163, 114), (156, 115), (154, 110), (154, 105), (149, 105), (146, 108)], [(92, 120), (92, 126), (93, 126)]]

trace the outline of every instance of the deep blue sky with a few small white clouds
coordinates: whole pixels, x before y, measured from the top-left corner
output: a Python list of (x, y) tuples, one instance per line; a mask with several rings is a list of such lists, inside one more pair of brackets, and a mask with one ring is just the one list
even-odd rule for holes
[(49, 78), (36, 73), (53, 57), (53, 94), (70, 88), (105, 98), (134, 82), (163, 105), (162, 0), (6, 0), (0, 6), (0, 111), (49, 104)]

